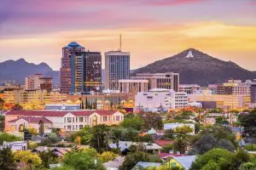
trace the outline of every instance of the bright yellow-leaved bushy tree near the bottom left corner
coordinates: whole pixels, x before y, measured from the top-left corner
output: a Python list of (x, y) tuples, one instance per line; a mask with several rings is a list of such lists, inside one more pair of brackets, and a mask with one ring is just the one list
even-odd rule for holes
[(15, 152), (15, 160), (26, 163), (29, 169), (38, 168), (42, 163), (40, 157), (29, 150)]

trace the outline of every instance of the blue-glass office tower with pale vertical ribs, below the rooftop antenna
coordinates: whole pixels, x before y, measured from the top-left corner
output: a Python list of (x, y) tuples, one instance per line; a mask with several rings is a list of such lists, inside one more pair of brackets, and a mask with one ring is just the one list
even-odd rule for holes
[(130, 78), (130, 53), (109, 51), (105, 53), (105, 88), (119, 89), (120, 79)]

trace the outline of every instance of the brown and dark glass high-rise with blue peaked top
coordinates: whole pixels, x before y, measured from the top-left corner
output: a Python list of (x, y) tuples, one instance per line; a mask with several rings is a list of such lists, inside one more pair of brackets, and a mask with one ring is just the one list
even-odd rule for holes
[(102, 54), (86, 51), (77, 42), (62, 48), (61, 93), (82, 94), (102, 84)]

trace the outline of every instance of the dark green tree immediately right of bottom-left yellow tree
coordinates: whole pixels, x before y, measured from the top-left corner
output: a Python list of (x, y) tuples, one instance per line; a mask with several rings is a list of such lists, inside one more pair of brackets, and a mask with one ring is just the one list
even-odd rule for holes
[(51, 152), (49, 150), (48, 151), (40, 151), (40, 152), (38, 152), (38, 156), (42, 160), (41, 167), (44, 167), (44, 168), (49, 168), (49, 164), (50, 163), (55, 163), (56, 159), (58, 157), (53, 152)]

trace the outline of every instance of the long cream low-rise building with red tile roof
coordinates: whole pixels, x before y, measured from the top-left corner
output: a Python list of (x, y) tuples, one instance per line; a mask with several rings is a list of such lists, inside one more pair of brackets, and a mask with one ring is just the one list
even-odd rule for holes
[(20, 127), (34, 127), (44, 122), (45, 129), (61, 128), (78, 131), (84, 126), (115, 125), (123, 122), (119, 111), (9, 111), (5, 115), (5, 131), (19, 131)]

